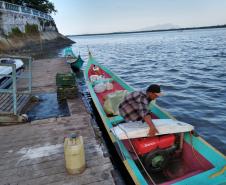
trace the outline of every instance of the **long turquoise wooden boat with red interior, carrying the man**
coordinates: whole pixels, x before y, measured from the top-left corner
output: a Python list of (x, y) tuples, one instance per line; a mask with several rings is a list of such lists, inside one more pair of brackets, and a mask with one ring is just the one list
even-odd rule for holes
[[(91, 98), (101, 116), (104, 127), (135, 184), (226, 184), (226, 157), (194, 131), (166, 134), (152, 138), (127, 138), (120, 140), (114, 132), (112, 132), (112, 128), (117, 124), (118, 126), (122, 124), (120, 122), (123, 122), (123, 118), (120, 115), (109, 115), (105, 112), (106, 96), (121, 90), (132, 92), (134, 89), (109, 69), (99, 64), (91, 54), (89, 55), (84, 75)], [(99, 76), (101, 77), (98, 79)], [(110, 82), (112, 88), (106, 90), (99, 85), (99, 87), (95, 89), (98, 81), (100, 81), (99, 83), (101, 83), (101, 85), (105, 82)], [(152, 117), (155, 119), (175, 120), (175, 118), (162, 110), (156, 103), (151, 103), (150, 109)], [(142, 142), (145, 143), (151, 140), (151, 144), (156, 144), (161, 141), (162, 137), (166, 137), (167, 142), (169, 141), (168, 148), (162, 147), (162, 149), (160, 149), (161, 144), (158, 144), (157, 148), (150, 150), (150, 152), (144, 155), (141, 153), (142, 149), (139, 149), (139, 147), (136, 148), (137, 142), (138, 145), (140, 144), (139, 146), (145, 148)], [(175, 139), (173, 144), (172, 140), (170, 141), (172, 137)], [(153, 141), (155, 139), (157, 140)], [(150, 145), (150, 143), (146, 144)], [(170, 148), (172, 147), (175, 148), (171, 150)], [(156, 153), (156, 151), (158, 152)]]

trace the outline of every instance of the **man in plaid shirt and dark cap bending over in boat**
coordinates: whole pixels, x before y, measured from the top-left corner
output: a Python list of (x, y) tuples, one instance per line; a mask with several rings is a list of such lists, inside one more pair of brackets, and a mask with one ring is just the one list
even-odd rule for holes
[(160, 86), (156, 84), (150, 85), (146, 92), (132, 92), (120, 103), (119, 113), (126, 121), (145, 121), (150, 127), (149, 135), (154, 136), (158, 131), (152, 123), (148, 105), (161, 95)]

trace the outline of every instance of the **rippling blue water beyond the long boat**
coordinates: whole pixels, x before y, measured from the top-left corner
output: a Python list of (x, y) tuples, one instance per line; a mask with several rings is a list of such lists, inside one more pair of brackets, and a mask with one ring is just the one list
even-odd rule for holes
[(160, 84), (158, 104), (226, 154), (226, 29), (71, 39), (136, 89)]

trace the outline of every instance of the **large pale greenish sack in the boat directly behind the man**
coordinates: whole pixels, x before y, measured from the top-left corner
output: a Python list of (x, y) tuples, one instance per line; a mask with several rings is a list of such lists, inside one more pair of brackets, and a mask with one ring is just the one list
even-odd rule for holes
[(104, 101), (104, 111), (108, 115), (119, 115), (118, 106), (127, 94), (128, 92), (126, 90), (120, 90), (108, 94)]

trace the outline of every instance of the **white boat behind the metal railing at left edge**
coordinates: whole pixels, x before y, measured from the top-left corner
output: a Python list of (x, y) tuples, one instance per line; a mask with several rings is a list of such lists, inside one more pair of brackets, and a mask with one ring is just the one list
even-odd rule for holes
[(24, 67), (24, 63), (21, 59), (12, 59), (12, 58), (0, 58), (0, 87), (5, 88), (12, 83), (12, 78), (7, 75), (12, 74), (12, 67), (5, 66), (9, 64), (16, 65), (17, 74), (20, 73), (21, 69)]

